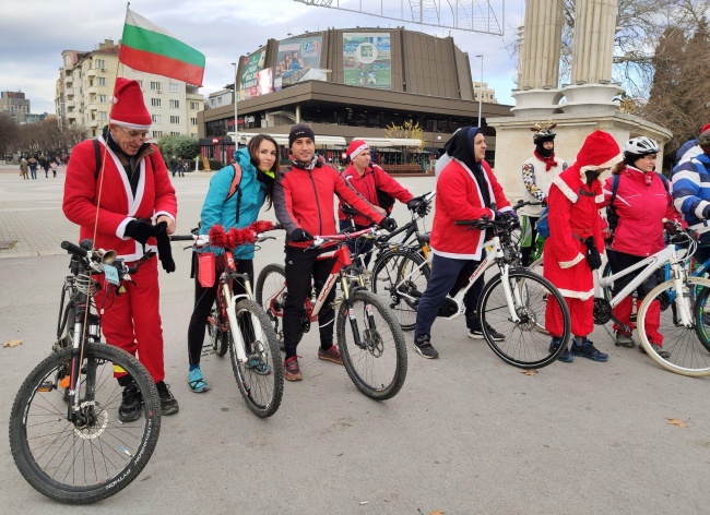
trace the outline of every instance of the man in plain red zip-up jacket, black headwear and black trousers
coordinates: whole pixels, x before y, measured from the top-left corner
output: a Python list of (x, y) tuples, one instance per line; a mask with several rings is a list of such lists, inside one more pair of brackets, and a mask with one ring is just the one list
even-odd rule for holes
[[(375, 206), (351, 189), (340, 172), (316, 155), (316, 135), (306, 123), (296, 123), (288, 134), (293, 166), (274, 184), (273, 205), (276, 218), (286, 230), (286, 284), (288, 294), (284, 306), (284, 376), (300, 381), (296, 347), (303, 337), (300, 319), (304, 299), (308, 297), (311, 277), (317, 288), (322, 287), (333, 267), (333, 260), (316, 261), (319, 254), (332, 251), (332, 247), (308, 249), (313, 235), (328, 236), (338, 232), (333, 195), (342, 197), (355, 209), (370, 217), (380, 227), (394, 230), (392, 218), (378, 213)], [(320, 348), (318, 358), (343, 364), (338, 347), (333, 345), (335, 313), (332, 302), (335, 289), (331, 289), (323, 310), (318, 315)]]

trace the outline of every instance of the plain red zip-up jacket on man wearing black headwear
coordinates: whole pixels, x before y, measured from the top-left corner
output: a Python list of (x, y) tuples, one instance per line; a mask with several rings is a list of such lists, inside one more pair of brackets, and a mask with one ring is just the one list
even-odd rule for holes
[[(333, 194), (377, 224), (384, 218), (371, 204), (346, 183), (340, 172), (321, 161), (312, 170), (292, 167), (274, 184), (273, 202), (279, 223), (288, 235), (301, 228), (312, 236), (336, 235)], [(308, 247), (310, 242), (288, 242), (292, 247)]]

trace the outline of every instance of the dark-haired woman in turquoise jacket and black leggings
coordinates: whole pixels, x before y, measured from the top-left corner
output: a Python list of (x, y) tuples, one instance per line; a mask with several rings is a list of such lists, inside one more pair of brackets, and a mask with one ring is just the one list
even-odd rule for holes
[[(235, 178), (235, 168), (229, 165), (222, 168), (210, 181), (210, 189), (200, 214), (200, 233), (206, 235), (214, 225), (221, 225), (225, 230), (232, 227), (244, 228), (255, 223), (259, 211), (268, 201), (271, 207), (271, 194), (274, 179), (279, 172), (279, 156), (281, 155), (275, 140), (265, 134), (258, 134), (249, 144), (234, 153), (235, 164), (241, 169), (241, 180), (237, 191), (229, 195), (229, 188)], [(228, 196), (228, 197), (227, 197)], [(240, 245), (234, 251), (237, 270), (249, 274), (253, 284), (253, 244)], [(194, 309), (188, 327), (188, 356), (190, 368), (188, 384), (190, 390), (202, 393), (210, 390), (200, 369), (200, 356), (204, 343), (204, 331), (208, 316), (217, 295), (218, 282), (215, 279), (210, 287), (203, 287), (199, 280), (199, 260), (197, 253), (214, 252), (215, 266), (220, 270), (222, 249), (205, 247), (193, 254), (194, 272)], [(215, 274), (218, 276), (218, 274)], [(244, 294), (244, 284), (234, 282), (235, 295)]]

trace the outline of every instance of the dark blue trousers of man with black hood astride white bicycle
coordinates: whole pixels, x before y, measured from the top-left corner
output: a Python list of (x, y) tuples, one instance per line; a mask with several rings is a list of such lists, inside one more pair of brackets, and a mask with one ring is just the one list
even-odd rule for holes
[[(468, 283), (468, 278), (480, 264), (480, 261), (453, 260), (434, 254), (429, 282), (416, 310), (415, 340), (422, 335), (431, 335), (431, 325), (437, 318), (441, 301), (449, 294), (455, 295), (461, 289), (462, 284)], [(475, 310), (483, 290), (483, 277), (481, 277), (463, 297), (463, 304), (466, 307), (466, 327), (469, 330), (478, 328)]]

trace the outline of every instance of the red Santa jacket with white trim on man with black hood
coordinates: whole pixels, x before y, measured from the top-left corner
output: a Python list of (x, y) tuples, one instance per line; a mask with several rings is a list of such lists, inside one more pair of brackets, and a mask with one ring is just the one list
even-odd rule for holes
[[(490, 166), (482, 161), (490, 201), (497, 211), (511, 211), (501, 185)], [(454, 225), (457, 220), (473, 220), (488, 216), (494, 211), (483, 206), (483, 197), (473, 173), (458, 159), (443, 167), (436, 183), (436, 206), (431, 224), (431, 250), (435, 254), (454, 260), (480, 260), (483, 231), (470, 226)]]

